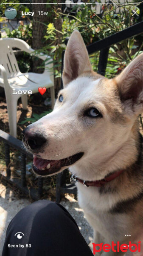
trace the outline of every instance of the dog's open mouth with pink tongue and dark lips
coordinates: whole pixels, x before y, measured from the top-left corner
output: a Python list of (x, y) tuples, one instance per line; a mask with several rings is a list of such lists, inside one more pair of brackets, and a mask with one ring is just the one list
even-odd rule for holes
[(76, 163), (82, 156), (83, 152), (74, 154), (71, 157), (67, 157), (60, 160), (46, 160), (34, 156), (33, 160), (33, 171), (40, 176), (47, 176), (53, 173), (59, 172), (59, 170), (64, 166), (70, 166)]

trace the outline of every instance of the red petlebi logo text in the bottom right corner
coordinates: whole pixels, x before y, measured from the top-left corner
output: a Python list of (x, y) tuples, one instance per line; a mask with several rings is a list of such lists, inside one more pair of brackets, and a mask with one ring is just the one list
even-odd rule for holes
[[(121, 244), (118, 241), (117, 244), (115, 244), (113, 241), (110, 244), (95, 244), (93, 243), (93, 254), (96, 254), (98, 252), (101, 252), (101, 250), (103, 250), (104, 252), (110, 252), (110, 250), (112, 250), (114, 253), (116, 252), (127, 252), (127, 250), (129, 249), (131, 252), (140, 252), (140, 243), (141, 241), (138, 241), (138, 245), (137, 244), (132, 244), (131, 241), (129, 241), (129, 245), (128, 244)], [(116, 249), (114, 248), (116, 246)], [(96, 248), (99, 247), (99, 248)]]

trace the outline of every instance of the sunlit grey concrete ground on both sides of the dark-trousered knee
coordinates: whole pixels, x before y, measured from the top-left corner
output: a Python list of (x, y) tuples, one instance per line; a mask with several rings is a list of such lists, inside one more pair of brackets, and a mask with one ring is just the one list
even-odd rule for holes
[[(87, 244), (92, 248), (93, 230), (87, 223), (83, 210), (79, 207), (78, 202), (66, 196), (67, 201), (62, 201), (61, 204), (70, 212), (73, 218), (79, 225), (81, 234), (87, 241)], [(0, 256), (3, 250), (3, 244), (6, 236), (6, 229), (11, 219), (20, 209), (31, 204), (28, 199), (18, 199), (9, 187), (0, 184)]]

